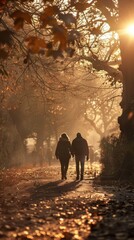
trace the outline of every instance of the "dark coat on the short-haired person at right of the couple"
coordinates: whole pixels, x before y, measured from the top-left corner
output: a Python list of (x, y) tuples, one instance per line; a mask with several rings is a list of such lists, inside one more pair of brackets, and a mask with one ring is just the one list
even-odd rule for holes
[(75, 156), (87, 156), (89, 158), (89, 148), (86, 139), (76, 137), (72, 141), (72, 154)]

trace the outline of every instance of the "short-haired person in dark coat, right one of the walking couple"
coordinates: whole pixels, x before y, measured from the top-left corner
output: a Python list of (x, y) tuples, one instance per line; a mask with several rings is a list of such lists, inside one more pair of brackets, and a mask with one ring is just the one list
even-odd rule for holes
[[(77, 133), (76, 138), (72, 141), (72, 154), (75, 156), (76, 162), (76, 180), (83, 180), (84, 178), (84, 165), (85, 158), (89, 158), (89, 148), (86, 139), (81, 136), (81, 133)], [(81, 171), (79, 168), (81, 166)]]

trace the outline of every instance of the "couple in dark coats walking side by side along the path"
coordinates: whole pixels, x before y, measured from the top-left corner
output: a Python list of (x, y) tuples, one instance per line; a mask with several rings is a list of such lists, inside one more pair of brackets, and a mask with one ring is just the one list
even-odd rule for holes
[[(85, 158), (89, 158), (89, 148), (86, 139), (77, 133), (76, 138), (72, 144), (66, 133), (62, 133), (56, 146), (55, 156), (59, 159), (61, 164), (61, 178), (67, 179), (67, 170), (69, 160), (75, 157), (76, 163), (76, 180), (83, 180)], [(80, 169), (81, 166), (81, 169)]]

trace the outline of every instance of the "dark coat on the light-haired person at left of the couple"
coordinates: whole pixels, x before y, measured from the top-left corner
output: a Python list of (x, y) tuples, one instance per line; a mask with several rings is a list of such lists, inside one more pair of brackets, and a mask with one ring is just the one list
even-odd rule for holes
[(60, 138), (55, 150), (55, 156), (57, 159), (69, 159), (71, 158), (71, 143), (66, 138)]

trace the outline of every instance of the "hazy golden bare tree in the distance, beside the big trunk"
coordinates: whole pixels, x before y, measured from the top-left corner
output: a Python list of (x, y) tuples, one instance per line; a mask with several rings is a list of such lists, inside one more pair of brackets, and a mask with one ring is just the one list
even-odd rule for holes
[(109, 83), (99, 83), (94, 89), (90, 89), (90, 97), (85, 101), (85, 120), (89, 123), (100, 140), (109, 134), (118, 133), (117, 117), (120, 107), (120, 85), (113, 88)]

